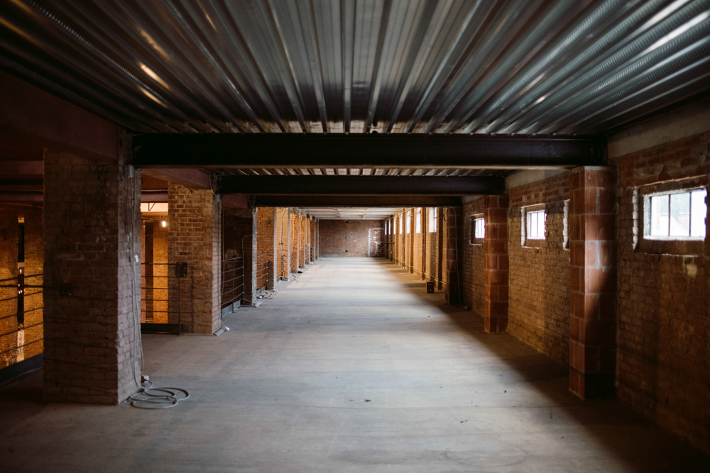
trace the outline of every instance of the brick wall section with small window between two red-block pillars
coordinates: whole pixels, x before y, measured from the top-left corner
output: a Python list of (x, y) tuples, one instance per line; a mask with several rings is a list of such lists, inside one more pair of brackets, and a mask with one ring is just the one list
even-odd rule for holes
[[(569, 250), (564, 248), (564, 201), (569, 175), (510, 189), (508, 332), (564, 365), (569, 360)], [(547, 238), (521, 242), (523, 206), (545, 204)]]

